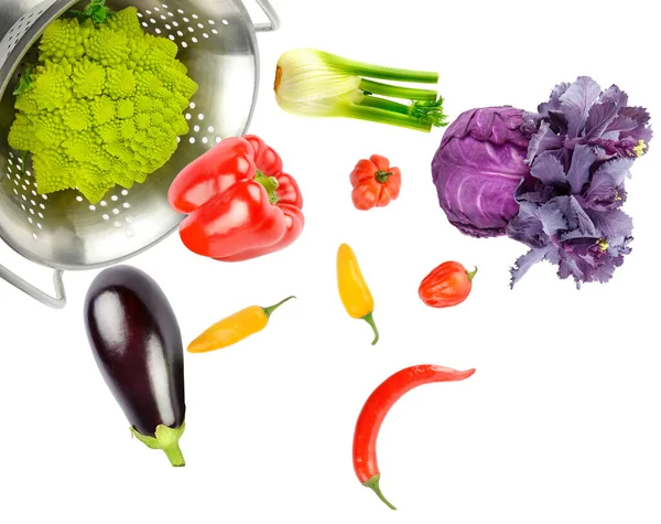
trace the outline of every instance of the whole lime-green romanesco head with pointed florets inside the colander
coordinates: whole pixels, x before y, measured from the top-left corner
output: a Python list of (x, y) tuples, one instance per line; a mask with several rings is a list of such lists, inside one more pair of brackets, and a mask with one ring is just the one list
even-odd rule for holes
[(9, 145), (32, 154), (40, 194), (78, 189), (95, 204), (170, 160), (197, 84), (176, 44), (145, 33), (136, 8), (102, 22), (56, 20), (39, 50)]

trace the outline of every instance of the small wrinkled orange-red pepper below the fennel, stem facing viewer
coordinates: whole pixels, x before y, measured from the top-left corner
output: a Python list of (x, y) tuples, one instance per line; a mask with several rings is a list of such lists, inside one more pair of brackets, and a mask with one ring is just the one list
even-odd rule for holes
[(361, 211), (388, 205), (399, 196), (402, 185), (399, 168), (391, 168), (388, 159), (379, 154), (359, 160), (349, 179), (354, 206)]

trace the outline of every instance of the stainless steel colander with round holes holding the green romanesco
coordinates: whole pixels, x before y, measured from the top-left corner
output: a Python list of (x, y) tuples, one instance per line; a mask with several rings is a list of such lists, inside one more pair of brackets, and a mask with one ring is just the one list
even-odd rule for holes
[(177, 58), (199, 85), (186, 110), (191, 131), (171, 160), (131, 190), (117, 186), (97, 205), (75, 190), (40, 195), (29, 162), (7, 137), (14, 86), (48, 23), (88, 0), (0, 0), (0, 237), (24, 258), (54, 270), (55, 293), (37, 289), (0, 265), (0, 277), (53, 308), (63, 308), (64, 270), (126, 260), (176, 229), (182, 215), (167, 203), (172, 180), (225, 137), (248, 129), (259, 86), (256, 31), (280, 22), (267, 0), (254, 0), (270, 22), (253, 24), (241, 0), (107, 0), (112, 10), (134, 6), (145, 31), (174, 41)]

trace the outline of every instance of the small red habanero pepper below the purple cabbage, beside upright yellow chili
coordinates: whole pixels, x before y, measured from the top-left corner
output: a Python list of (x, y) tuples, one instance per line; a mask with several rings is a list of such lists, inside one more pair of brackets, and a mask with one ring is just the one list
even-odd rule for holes
[(473, 289), (473, 277), (477, 268), (467, 271), (456, 261), (446, 261), (436, 266), (423, 278), (418, 289), (421, 300), (432, 308), (456, 306), (468, 297)]

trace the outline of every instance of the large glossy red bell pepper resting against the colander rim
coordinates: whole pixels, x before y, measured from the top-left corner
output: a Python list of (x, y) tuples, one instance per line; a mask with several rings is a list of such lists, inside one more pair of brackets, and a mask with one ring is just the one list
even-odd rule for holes
[(187, 214), (184, 245), (202, 256), (239, 261), (291, 245), (303, 231), (303, 197), (280, 156), (253, 136), (227, 138), (186, 165), (167, 200)]

